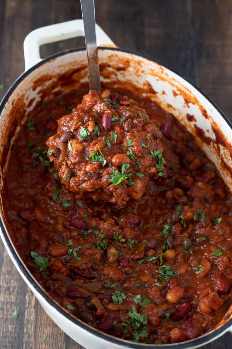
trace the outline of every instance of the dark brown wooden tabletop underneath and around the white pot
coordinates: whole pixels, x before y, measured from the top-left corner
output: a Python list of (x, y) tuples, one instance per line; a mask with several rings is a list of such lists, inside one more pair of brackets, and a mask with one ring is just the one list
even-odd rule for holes
[[(169, 65), (206, 92), (232, 120), (231, 0), (95, 0), (95, 6), (97, 23), (116, 45)], [(0, 99), (24, 71), (25, 36), (35, 28), (75, 18), (81, 18), (77, 0), (0, 0)], [(41, 55), (83, 43), (81, 38), (45, 45)], [(12, 315), (15, 309), (17, 320)], [(203, 349), (222, 346), (232, 348), (230, 333)], [(0, 348), (82, 349), (43, 311), (2, 242)]]

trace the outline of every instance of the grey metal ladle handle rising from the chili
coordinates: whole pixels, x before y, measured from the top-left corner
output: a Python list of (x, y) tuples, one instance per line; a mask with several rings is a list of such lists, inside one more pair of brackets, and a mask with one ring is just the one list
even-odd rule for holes
[(95, 28), (94, 0), (81, 0), (81, 11), (85, 30), (85, 44), (88, 59), (89, 89), (101, 91), (98, 51)]

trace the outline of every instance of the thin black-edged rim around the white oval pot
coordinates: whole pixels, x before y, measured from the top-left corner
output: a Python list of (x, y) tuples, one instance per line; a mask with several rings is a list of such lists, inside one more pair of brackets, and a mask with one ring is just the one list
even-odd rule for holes
[[(129, 53), (129, 54), (133, 54), (136, 55), (138, 57), (142, 57), (145, 58), (147, 60), (150, 60), (151, 62), (157, 63), (162, 67), (165, 67), (167, 69), (169, 69), (171, 72), (175, 73), (177, 76), (181, 77), (184, 81), (188, 82), (192, 87), (194, 87), (198, 92), (200, 92), (201, 95), (203, 95), (203, 97), (205, 97), (208, 102), (217, 110), (217, 112), (221, 115), (221, 117), (227, 122), (228, 126), (232, 129), (232, 122), (226, 117), (226, 115), (223, 113), (223, 111), (218, 107), (218, 105), (213, 102), (206, 94), (205, 92), (203, 92), (201, 89), (199, 89), (197, 86), (195, 86), (190, 80), (186, 79), (186, 77), (181, 76), (180, 74), (178, 74), (173, 68), (170, 68), (168, 65), (163, 64), (162, 62), (160, 62), (159, 60), (153, 60), (152, 58), (150, 58), (149, 56), (146, 56), (144, 54), (140, 54), (140, 53), (136, 53), (133, 51), (129, 51), (126, 49), (120, 49), (118, 47), (103, 47), (103, 46), (99, 46), (98, 47), (99, 50), (110, 50), (110, 51), (118, 51), (118, 52), (125, 52), (125, 53)], [(29, 68), (28, 70), (26, 70), (25, 72), (23, 72), (16, 80), (15, 82), (11, 85), (11, 87), (8, 89), (8, 91), (6, 92), (5, 96), (3, 97), (1, 103), (0, 103), (0, 116), (2, 113), (2, 110), (5, 107), (5, 104), (7, 103), (10, 95), (14, 92), (15, 88), (18, 86), (19, 83), (21, 83), (26, 76), (28, 76), (33, 70), (37, 69), (39, 66), (43, 65), (44, 63), (55, 59), (57, 57), (60, 57), (61, 55), (65, 55), (65, 54), (69, 54), (72, 52), (78, 52), (78, 51), (85, 51), (86, 48), (85, 47), (79, 47), (79, 48), (74, 48), (74, 49), (70, 49), (70, 50), (65, 50), (65, 51), (61, 51), (55, 54), (52, 54), (48, 57), (46, 57), (45, 59), (42, 59), (41, 61), (39, 61), (37, 64), (35, 64), (34, 66), (32, 66), (31, 68)], [(57, 310), (59, 313), (61, 313), (65, 318), (67, 318), (68, 320), (72, 321), (75, 325), (80, 326), (82, 329), (90, 332), (93, 335), (97, 335), (99, 337), (101, 337), (101, 339), (105, 340), (105, 341), (109, 341), (118, 345), (122, 345), (124, 347), (130, 348), (130, 349), (141, 349), (141, 348), (162, 348), (165, 346), (165, 348), (175, 348), (178, 346), (178, 349), (185, 349), (187, 347), (191, 347), (191, 348), (196, 348), (196, 347), (200, 347), (203, 344), (206, 344), (208, 342), (210, 342), (211, 340), (213, 340), (214, 338), (216, 339), (217, 337), (220, 336), (220, 334), (222, 334), (222, 332), (225, 332), (226, 329), (228, 329), (230, 326), (232, 326), (232, 317), (229, 321), (226, 322), (226, 324), (222, 325), (221, 327), (217, 328), (217, 329), (212, 329), (209, 333), (206, 333), (196, 339), (193, 340), (189, 340), (189, 341), (185, 341), (185, 342), (180, 342), (180, 343), (169, 343), (169, 344), (144, 344), (144, 343), (135, 343), (135, 342), (131, 342), (131, 341), (127, 341), (127, 340), (122, 340), (119, 339), (117, 337), (114, 337), (112, 335), (106, 334), (104, 332), (101, 332), (97, 329), (95, 329), (94, 327), (91, 327), (87, 324), (85, 324), (82, 321), (79, 321), (77, 318), (74, 318), (71, 314), (69, 314), (68, 312), (66, 312), (63, 307), (61, 305), (59, 305), (58, 303), (56, 303), (52, 298), (50, 298), (47, 294), (47, 292), (39, 285), (39, 283), (30, 275), (30, 272), (27, 270), (26, 266), (24, 265), (24, 263), (18, 258), (16, 252), (15, 252), (15, 247), (13, 245), (13, 242), (11, 241), (11, 239), (8, 237), (7, 235), (7, 231), (4, 228), (4, 225), (2, 223), (2, 220), (0, 220), (0, 228), (1, 231), (1, 237), (4, 240), (5, 244), (8, 246), (8, 249), (11, 253), (11, 257), (14, 259), (14, 262), (16, 263), (17, 267), (21, 270), (21, 272), (26, 276), (26, 279), (30, 282), (30, 284), (32, 284), (33, 288), (40, 294), (40, 296), (53, 308), (55, 308), (55, 310)]]

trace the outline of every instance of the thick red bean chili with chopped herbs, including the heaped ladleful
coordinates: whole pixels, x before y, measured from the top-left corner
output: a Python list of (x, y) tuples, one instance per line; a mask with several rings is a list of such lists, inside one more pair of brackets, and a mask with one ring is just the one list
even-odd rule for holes
[[(90, 94), (81, 103), (85, 93), (72, 91), (41, 101), (15, 141), (5, 207), (17, 250), (48, 294), (87, 324), (135, 342), (194, 339), (216, 326), (232, 303), (231, 195), (214, 164), (172, 114), (145, 98), (128, 94), (126, 98), (125, 92), (97, 97), (97, 102)], [(85, 108), (85, 101), (96, 105), (100, 115), (105, 108), (110, 119), (115, 118), (107, 117), (110, 131), (97, 113), (91, 120), (80, 116), (75, 108)], [(81, 122), (71, 133), (74, 118)], [(136, 144), (140, 139), (134, 122), (143, 132), (141, 157), (134, 147), (134, 139)], [(94, 133), (96, 126), (99, 135), (98, 130)], [(123, 133), (120, 143), (111, 131), (117, 140)], [(97, 144), (101, 151), (93, 147)], [(85, 164), (83, 178), (78, 178), (75, 171), (80, 164), (71, 157), (73, 151), (78, 158), (80, 148), (90, 164), (89, 172)], [(154, 149), (163, 149), (160, 162)], [(102, 159), (95, 163), (90, 151), (107, 165)], [(110, 168), (113, 154), (126, 154), (129, 162), (121, 157), (114, 164), (112, 159)], [(120, 200), (109, 179), (117, 166), (123, 174), (123, 163), (130, 165), (133, 175), (118, 184), (123, 189)], [(146, 172), (148, 177), (151, 164), (156, 170), (157, 164), (162, 165), (158, 166), (162, 175), (149, 176), (143, 195), (135, 200), (130, 193), (135, 187), (129, 181), (135, 181), (136, 172)], [(67, 169), (72, 172), (70, 182), (62, 177)], [(102, 176), (107, 172), (108, 182), (95, 190), (98, 171)], [(125, 173), (130, 173), (129, 168)], [(85, 188), (88, 181), (95, 190), (92, 194), (90, 187)], [(85, 195), (79, 186), (85, 188)], [(104, 200), (94, 201), (100, 198)]]

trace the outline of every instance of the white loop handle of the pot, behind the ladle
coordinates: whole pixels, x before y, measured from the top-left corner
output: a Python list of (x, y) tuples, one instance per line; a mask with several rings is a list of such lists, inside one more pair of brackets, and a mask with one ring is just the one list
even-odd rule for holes
[[(25, 71), (42, 60), (39, 48), (43, 44), (85, 36), (83, 20), (51, 24), (31, 31), (24, 40)], [(96, 24), (98, 46), (116, 47), (108, 35)]]

